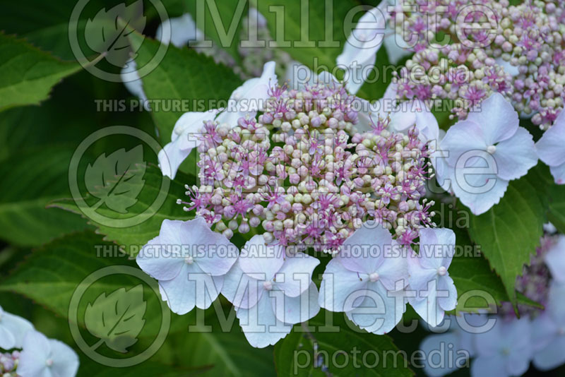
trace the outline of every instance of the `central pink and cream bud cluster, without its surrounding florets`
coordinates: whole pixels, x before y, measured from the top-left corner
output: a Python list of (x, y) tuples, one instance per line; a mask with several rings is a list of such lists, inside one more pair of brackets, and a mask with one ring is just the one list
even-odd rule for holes
[(429, 150), (411, 128), (378, 119), (358, 133), (355, 96), (343, 85), (270, 89), (258, 119), (208, 121), (198, 146), (201, 186), (187, 187), (196, 210), (227, 238), (263, 234), (297, 249), (335, 252), (362, 223), (374, 220), (401, 244), (433, 225), (422, 199)]

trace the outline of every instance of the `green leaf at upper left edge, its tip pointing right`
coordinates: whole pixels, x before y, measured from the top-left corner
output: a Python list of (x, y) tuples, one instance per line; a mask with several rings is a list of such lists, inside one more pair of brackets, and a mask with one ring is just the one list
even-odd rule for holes
[(28, 42), (0, 33), (0, 110), (39, 104), (59, 81), (81, 69)]

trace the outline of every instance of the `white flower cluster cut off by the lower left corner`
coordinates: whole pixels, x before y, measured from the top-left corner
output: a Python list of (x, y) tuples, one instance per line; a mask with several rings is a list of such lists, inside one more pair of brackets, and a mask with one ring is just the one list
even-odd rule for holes
[[(1, 349), (12, 352), (1, 352)], [(33, 325), (0, 306), (0, 375), (2, 377), (74, 377), (78, 355), (63, 342), (47, 339)]]

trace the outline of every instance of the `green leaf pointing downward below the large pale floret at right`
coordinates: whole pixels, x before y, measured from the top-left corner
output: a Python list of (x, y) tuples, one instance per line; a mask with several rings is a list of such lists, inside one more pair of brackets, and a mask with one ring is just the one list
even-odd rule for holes
[(498, 205), (487, 213), (471, 216), (470, 236), (516, 304), (514, 285), (540, 244), (546, 222), (547, 199), (539, 189), (537, 168), (521, 179), (511, 181)]

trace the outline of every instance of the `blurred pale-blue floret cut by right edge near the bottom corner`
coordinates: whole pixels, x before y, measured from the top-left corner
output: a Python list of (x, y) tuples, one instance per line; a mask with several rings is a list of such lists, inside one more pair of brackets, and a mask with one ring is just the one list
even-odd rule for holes
[(549, 288), (546, 310), (533, 321), (533, 363), (541, 371), (565, 364), (565, 285), (557, 282)]

